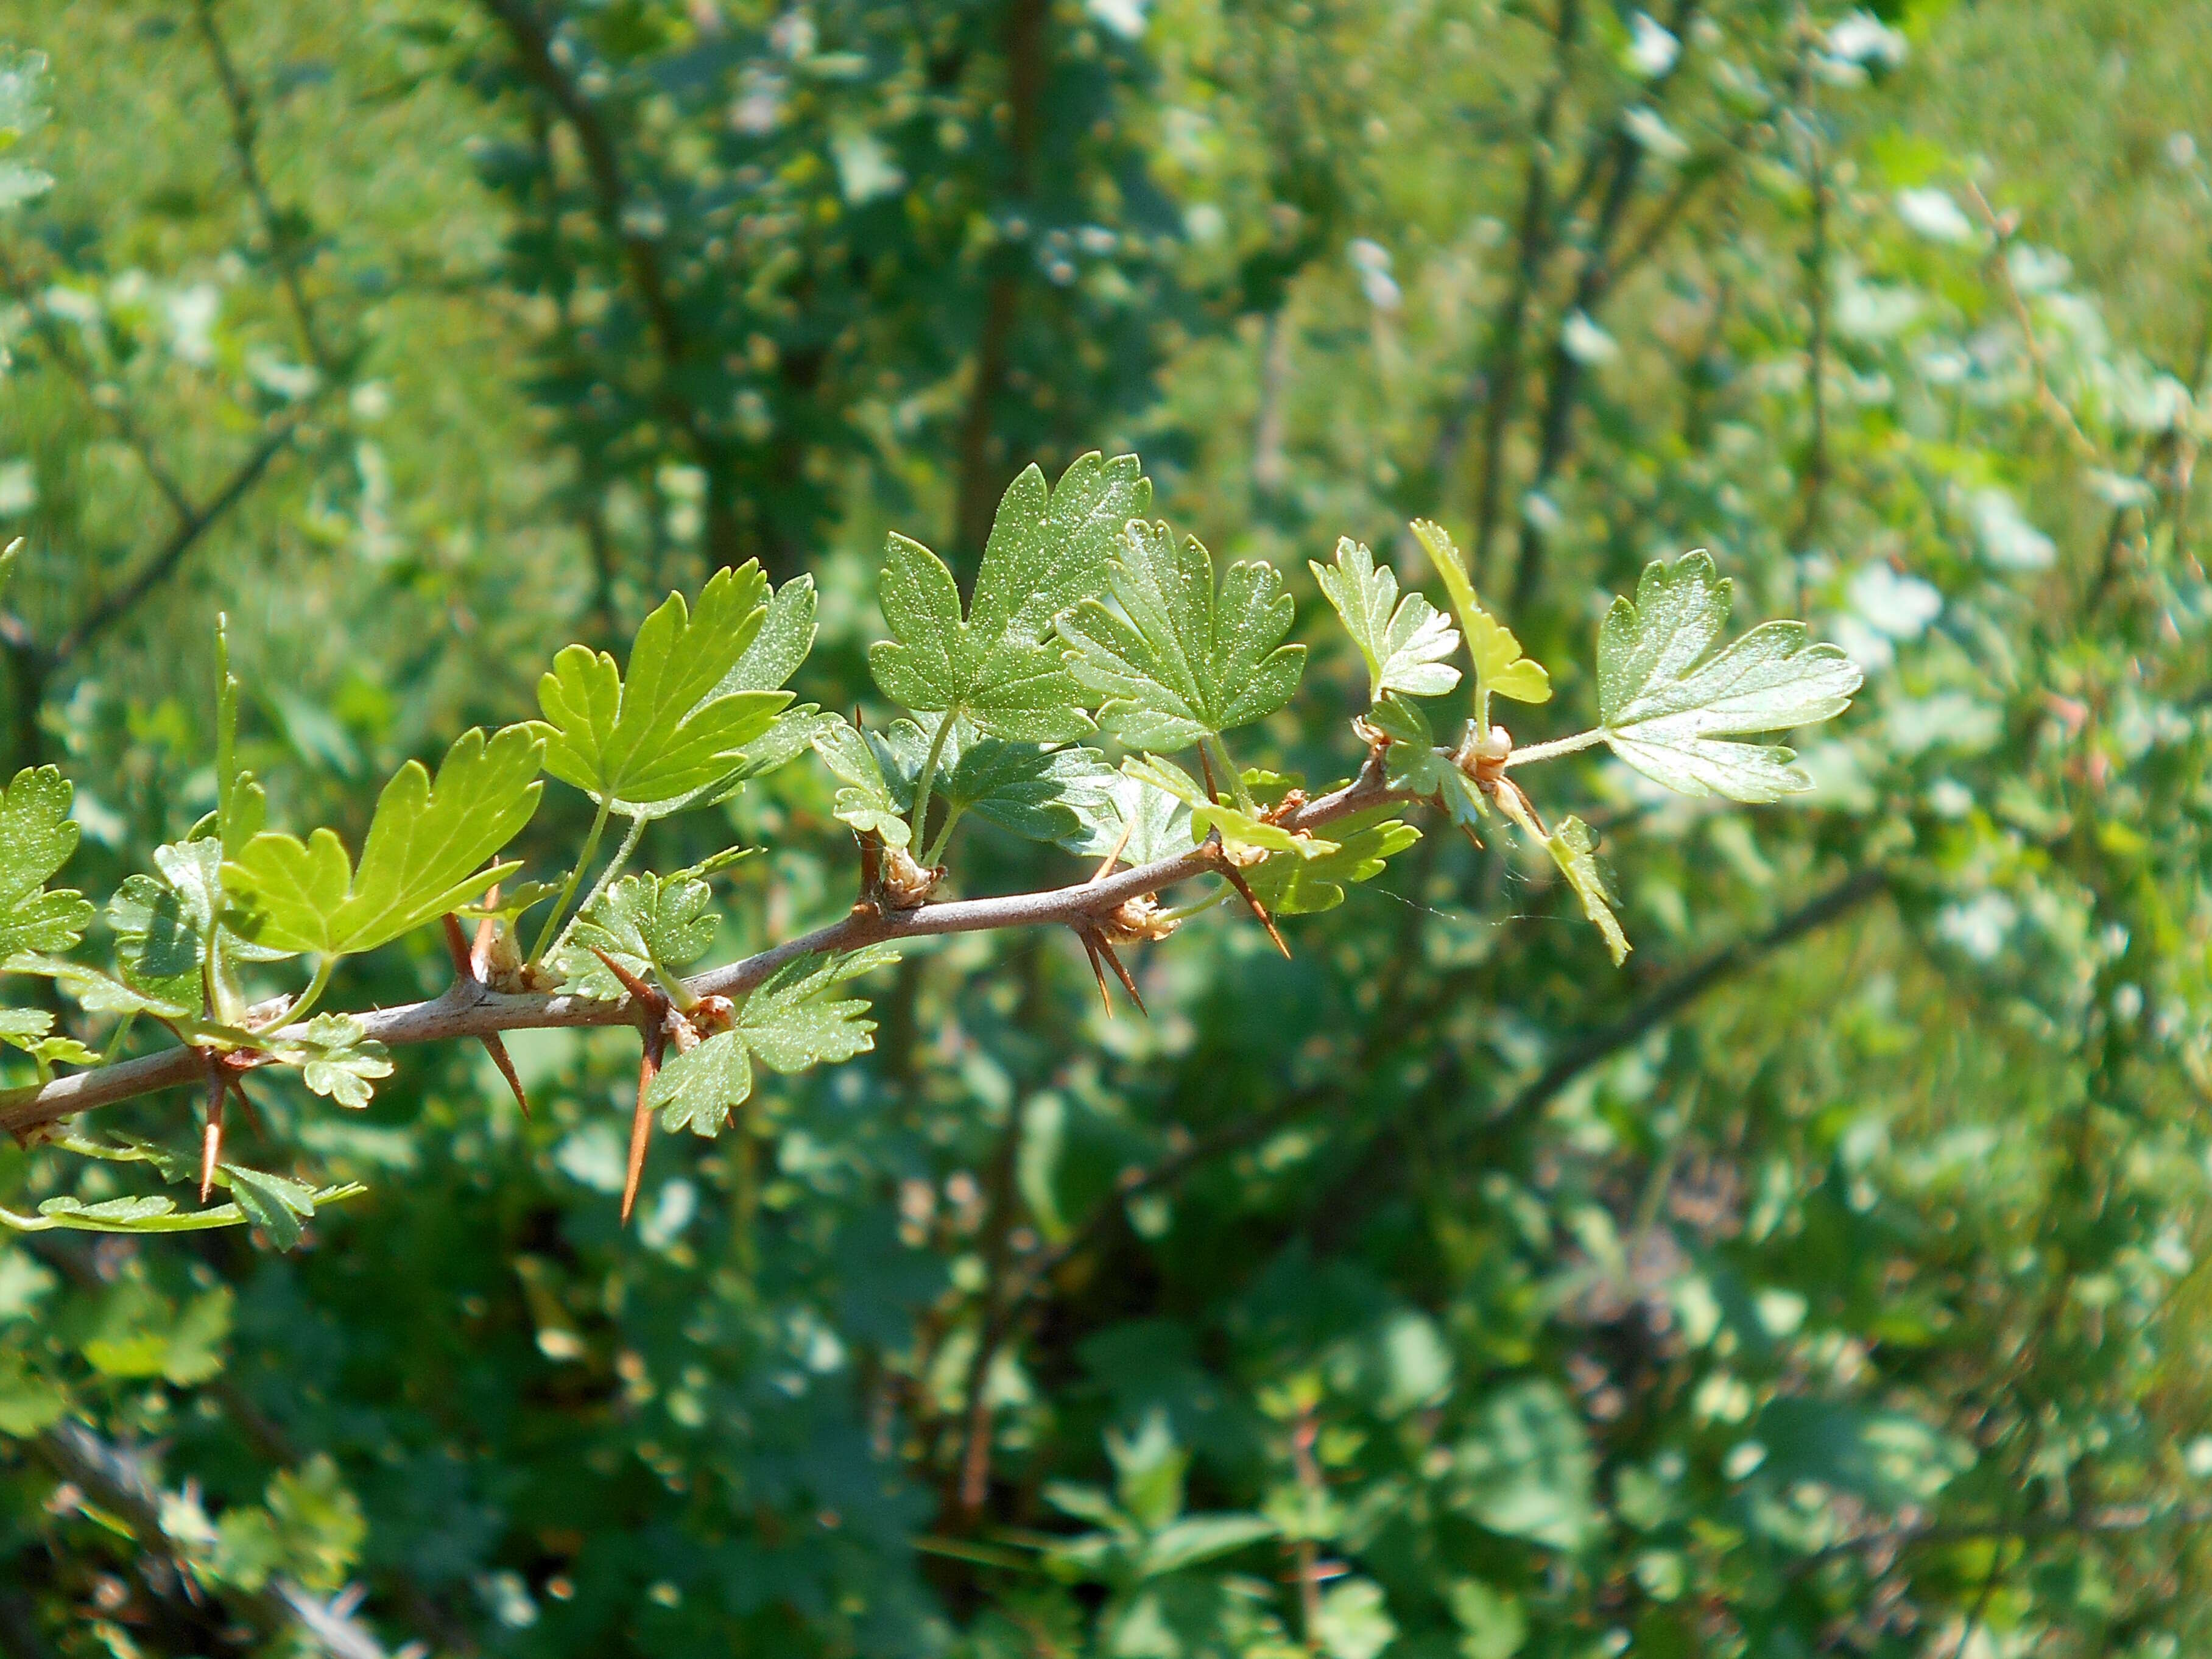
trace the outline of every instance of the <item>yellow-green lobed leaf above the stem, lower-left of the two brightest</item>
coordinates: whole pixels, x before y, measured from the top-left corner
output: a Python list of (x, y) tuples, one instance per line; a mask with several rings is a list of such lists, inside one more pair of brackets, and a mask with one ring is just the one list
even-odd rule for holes
[(358, 872), (330, 830), (305, 843), (263, 830), (223, 865), (226, 920), (257, 945), (343, 956), (469, 902), (518, 869), (484, 860), (538, 810), (542, 757), (535, 728), (509, 726), (489, 743), (462, 732), (436, 783), (407, 761), (376, 801)]

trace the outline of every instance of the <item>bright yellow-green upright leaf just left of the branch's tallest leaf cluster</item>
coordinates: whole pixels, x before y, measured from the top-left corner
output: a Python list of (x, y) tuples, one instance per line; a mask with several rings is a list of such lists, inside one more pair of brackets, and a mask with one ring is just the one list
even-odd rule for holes
[[(785, 584), (792, 586), (792, 584)], [(544, 768), (626, 818), (659, 818), (719, 790), (743, 761), (743, 748), (768, 732), (783, 690), (721, 690), (741, 675), (745, 650), (770, 615), (768, 577), (757, 562), (717, 571), (692, 613), (670, 593), (637, 628), (628, 670), (604, 650), (566, 646), (553, 672), (538, 681), (538, 708), (551, 726)], [(781, 597), (781, 595), (779, 595)], [(779, 641), (752, 664), (750, 677), (774, 672), (790, 657), (794, 595)], [(812, 630), (812, 615), (803, 630)], [(745, 677), (745, 675), (741, 675)]]

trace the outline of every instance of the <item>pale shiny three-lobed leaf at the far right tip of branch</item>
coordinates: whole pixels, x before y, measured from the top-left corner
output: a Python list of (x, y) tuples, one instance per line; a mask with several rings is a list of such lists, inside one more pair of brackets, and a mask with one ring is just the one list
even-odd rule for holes
[(1767, 622), (1705, 657), (1728, 622), (1732, 584), (1705, 551), (1644, 568), (1635, 602), (1615, 599), (1597, 635), (1606, 743), (1681, 794), (1778, 801), (1812, 787), (1792, 750), (1723, 739), (1785, 732), (1840, 714), (1860, 670), (1803, 622)]

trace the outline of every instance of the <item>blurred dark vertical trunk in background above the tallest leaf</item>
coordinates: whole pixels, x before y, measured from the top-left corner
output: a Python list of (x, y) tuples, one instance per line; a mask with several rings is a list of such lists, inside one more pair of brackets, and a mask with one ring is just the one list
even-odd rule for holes
[[(1048, 22), (1046, 0), (1006, 0), (1002, 46), (1006, 53), (1006, 102), (1013, 111), (1013, 124), (1006, 133), (1006, 212), (1029, 221), (1029, 230), (1035, 230), (1029, 195), (1037, 135), (1044, 126), (1044, 31)], [(956, 568), (960, 557), (982, 557), (982, 544), (991, 535), (991, 515), (998, 511), (1002, 467), (991, 451), (993, 416), (1006, 392), (1006, 352), (1022, 316), (1022, 268), (1026, 263), (1026, 234), (1022, 239), (1009, 237), (991, 252), (991, 281), (984, 288), (982, 319), (975, 330), (975, 378), (969, 383), (956, 451)]]

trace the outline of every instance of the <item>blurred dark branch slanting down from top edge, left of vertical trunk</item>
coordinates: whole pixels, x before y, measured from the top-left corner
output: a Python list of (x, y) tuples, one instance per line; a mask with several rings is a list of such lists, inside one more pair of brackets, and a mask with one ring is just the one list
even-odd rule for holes
[[(615, 135), (584, 88), (562, 69), (553, 51), (553, 33), (529, 0), (484, 0), (484, 9), (507, 31), (515, 62), (540, 93), (560, 111), (584, 153), (591, 175), (593, 212), (602, 232), (622, 248), (622, 265), (633, 296), (646, 314), (646, 330), (659, 352), (655, 403), (661, 416), (684, 434), (692, 456), (706, 471), (706, 549), (714, 564), (741, 564), (745, 549), (739, 535), (737, 500), (732, 495), (732, 447), (684, 387), (695, 365), (690, 330), (677, 305), (675, 285), (661, 261), (661, 241), (633, 217), (630, 186)], [(770, 566), (763, 551), (761, 564)], [(779, 571), (770, 568), (770, 575)]]

